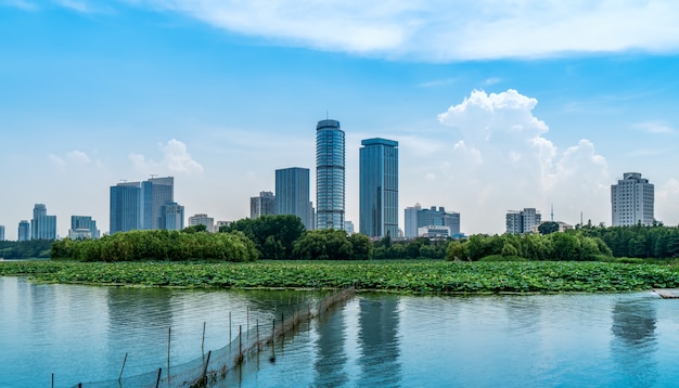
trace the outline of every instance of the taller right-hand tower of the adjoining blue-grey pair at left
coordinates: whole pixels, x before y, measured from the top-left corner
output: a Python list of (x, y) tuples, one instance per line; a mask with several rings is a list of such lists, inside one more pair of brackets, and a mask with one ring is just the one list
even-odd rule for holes
[(151, 178), (141, 182), (141, 229), (164, 229), (161, 225), (161, 207), (175, 202), (175, 178)]

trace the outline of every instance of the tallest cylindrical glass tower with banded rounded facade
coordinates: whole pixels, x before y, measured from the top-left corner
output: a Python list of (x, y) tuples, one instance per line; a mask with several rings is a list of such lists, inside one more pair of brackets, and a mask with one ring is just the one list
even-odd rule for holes
[(316, 228), (344, 230), (345, 145), (337, 120), (316, 126)]

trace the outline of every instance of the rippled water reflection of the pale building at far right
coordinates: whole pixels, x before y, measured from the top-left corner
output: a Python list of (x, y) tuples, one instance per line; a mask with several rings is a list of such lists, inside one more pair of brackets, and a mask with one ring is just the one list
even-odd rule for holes
[(613, 307), (611, 353), (630, 387), (651, 387), (657, 378), (654, 300), (625, 300)]

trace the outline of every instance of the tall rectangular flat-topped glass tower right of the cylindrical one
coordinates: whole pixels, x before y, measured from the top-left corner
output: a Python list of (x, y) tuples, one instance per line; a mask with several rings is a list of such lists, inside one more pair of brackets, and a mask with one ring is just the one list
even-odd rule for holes
[(398, 142), (367, 139), (360, 148), (359, 232), (398, 236)]

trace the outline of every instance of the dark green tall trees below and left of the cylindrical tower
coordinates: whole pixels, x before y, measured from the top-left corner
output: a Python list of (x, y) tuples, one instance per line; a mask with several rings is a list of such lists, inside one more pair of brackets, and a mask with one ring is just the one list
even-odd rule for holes
[(259, 258), (285, 260), (293, 258), (293, 244), (305, 228), (299, 217), (292, 215), (245, 218), (219, 228), (219, 232), (235, 231), (245, 233), (255, 243)]

